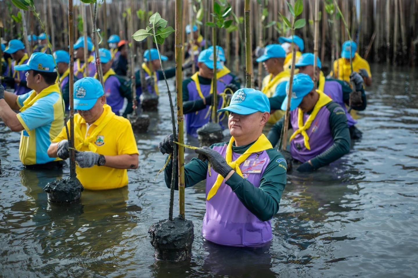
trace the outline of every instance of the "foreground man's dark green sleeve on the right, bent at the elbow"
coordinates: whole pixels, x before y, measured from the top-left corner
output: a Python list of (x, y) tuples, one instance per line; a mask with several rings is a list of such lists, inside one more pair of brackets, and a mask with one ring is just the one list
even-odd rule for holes
[(278, 212), (286, 185), (286, 160), (276, 150), (268, 150), (268, 154), (270, 163), (261, 177), (260, 187), (255, 187), (237, 173), (226, 182), (241, 203), (261, 221), (270, 220)]

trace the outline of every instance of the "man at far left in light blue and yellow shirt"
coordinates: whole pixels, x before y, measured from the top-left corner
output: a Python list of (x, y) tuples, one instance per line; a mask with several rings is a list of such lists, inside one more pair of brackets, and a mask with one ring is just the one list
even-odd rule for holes
[[(56, 83), (57, 73), (52, 55), (33, 53), (28, 63), (16, 65), (16, 70), (27, 71), (31, 92), (14, 95), (0, 87), (0, 117), (12, 131), (21, 131), (19, 158), (28, 168), (59, 168), (65, 163), (48, 157), (46, 151), (51, 138), (64, 125), (61, 93)], [(15, 113), (13, 110), (19, 110)]]

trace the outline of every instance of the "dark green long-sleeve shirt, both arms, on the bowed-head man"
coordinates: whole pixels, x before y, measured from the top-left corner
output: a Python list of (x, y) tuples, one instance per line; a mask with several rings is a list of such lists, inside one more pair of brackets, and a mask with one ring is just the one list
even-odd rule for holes
[[(321, 168), (322, 166), (328, 165), (329, 163), (341, 158), (343, 155), (349, 153), (350, 151), (350, 132), (347, 125), (347, 116), (342, 107), (331, 101), (325, 107), (329, 110), (330, 115), (328, 119), (329, 127), (331, 130), (332, 138), (334, 139), (334, 144), (331, 145), (329, 149), (323, 153), (317, 155), (314, 158), (311, 158), (311, 163), (315, 169)], [(280, 139), (284, 125), (284, 117), (281, 118), (268, 133), (268, 140), (273, 145), (277, 144)], [(292, 125), (289, 121), (289, 129), (292, 128)]]

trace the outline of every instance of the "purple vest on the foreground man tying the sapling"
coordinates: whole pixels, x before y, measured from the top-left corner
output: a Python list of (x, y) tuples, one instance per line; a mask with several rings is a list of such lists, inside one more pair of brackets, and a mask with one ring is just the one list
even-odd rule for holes
[[(215, 146), (214, 150), (225, 157), (227, 143), (223, 146)], [(270, 163), (266, 151), (253, 153), (249, 158), (265, 160), (263, 170), (259, 174), (243, 174), (255, 187), (260, 186), (260, 180), (265, 168)], [(232, 153), (232, 160), (236, 160), (240, 154)], [(242, 169), (241, 164), (240, 168)], [(216, 182), (218, 173), (213, 169), (212, 175), (206, 173), (206, 196)], [(212, 199), (206, 201), (206, 213), (203, 218), (202, 235), (209, 241), (229, 246), (255, 246), (272, 240), (270, 221), (261, 221), (252, 214), (232, 192), (229, 185), (224, 182)]]

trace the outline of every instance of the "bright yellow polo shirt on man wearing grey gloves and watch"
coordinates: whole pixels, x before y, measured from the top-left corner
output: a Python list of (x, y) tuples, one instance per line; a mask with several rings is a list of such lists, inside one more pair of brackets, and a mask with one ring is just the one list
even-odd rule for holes
[[(104, 111), (89, 127), (86, 121), (79, 115), (74, 115), (74, 129), (81, 129), (81, 134), (86, 138), (94, 132), (94, 129), (102, 123), (108, 113), (113, 113), (109, 105), (103, 106)], [(70, 126), (70, 123), (67, 123)], [(66, 140), (67, 134), (65, 127), (61, 133), (52, 141), (53, 143)], [(80, 144), (81, 143), (81, 144)], [(88, 145), (83, 144), (74, 136), (74, 145), (79, 151), (92, 151)], [(101, 155), (133, 155), (139, 154), (136, 145), (135, 136), (129, 120), (113, 115), (112, 119), (97, 134), (94, 139), (95, 153)], [(106, 166), (94, 165), (92, 168), (80, 168), (76, 165), (77, 178), (85, 189), (106, 190), (120, 188), (128, 184), (128, 175), (126, 169), (116, 169)]]

